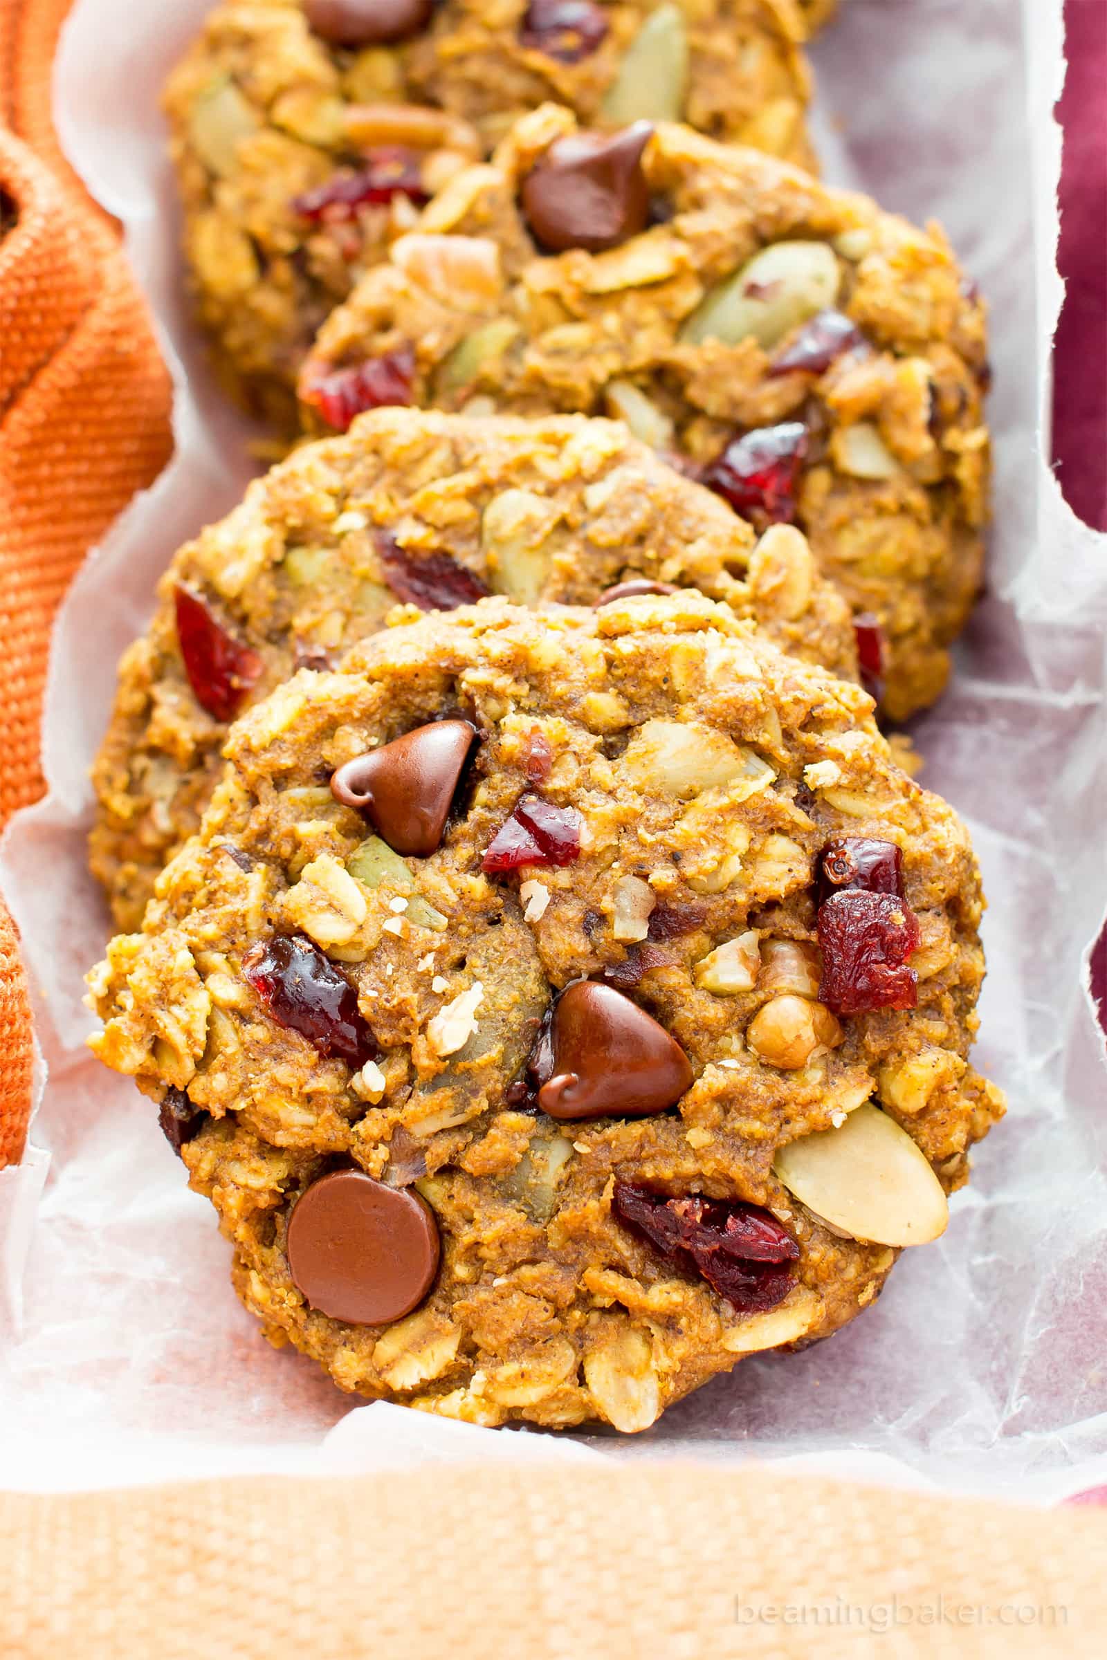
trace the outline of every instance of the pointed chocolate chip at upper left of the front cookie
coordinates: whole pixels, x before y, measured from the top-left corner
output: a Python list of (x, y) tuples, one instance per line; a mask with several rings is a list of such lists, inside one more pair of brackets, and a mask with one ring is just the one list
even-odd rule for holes
[(330, 790), (344, 807), (363, 812), (397, 853), (427, 858), (441, 843), (475, 737), (468, 720), (433, 720), (347, 760)]

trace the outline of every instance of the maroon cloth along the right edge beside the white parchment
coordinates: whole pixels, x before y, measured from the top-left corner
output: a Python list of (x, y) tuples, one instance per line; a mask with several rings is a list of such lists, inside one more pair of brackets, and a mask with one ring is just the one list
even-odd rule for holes
[[(1107, 0), (1066, 0), (1066, 56), (1054, 465), (1072, 511), (1107, 530)], [(1107, 931), (1092, 991), (1107, 1033)]]

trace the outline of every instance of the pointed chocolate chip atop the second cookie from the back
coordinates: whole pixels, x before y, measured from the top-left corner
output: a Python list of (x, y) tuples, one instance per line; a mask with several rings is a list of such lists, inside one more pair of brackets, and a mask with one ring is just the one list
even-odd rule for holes
[(642, 151), (654, 128), (636, 121), (621, 133), (569, 133), (556, 139), (523, 181), (523, 212), (549, 252), (584, 247), (597, 254), (649, 224)]

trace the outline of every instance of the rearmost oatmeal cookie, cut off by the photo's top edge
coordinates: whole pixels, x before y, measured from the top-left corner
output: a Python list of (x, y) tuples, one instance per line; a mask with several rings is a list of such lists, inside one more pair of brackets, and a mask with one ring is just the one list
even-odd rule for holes
[(543, 100), (812, 161), (795, 0), (222, 0), (164, 96), (216, 369), (294, 430), (327, 312)]

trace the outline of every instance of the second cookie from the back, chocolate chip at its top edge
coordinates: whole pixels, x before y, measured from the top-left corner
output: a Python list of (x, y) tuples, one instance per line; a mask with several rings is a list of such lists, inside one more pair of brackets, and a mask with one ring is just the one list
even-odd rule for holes
[[(941, 231), (689, 128), (518, 123), (324, 325), (314, 427), (390, 398), (611, 413), (753, 525), (795, 521), (893, 720), (981, 581), (984, 307)], [(403, 385), (397, 388), (397, 380)]]

